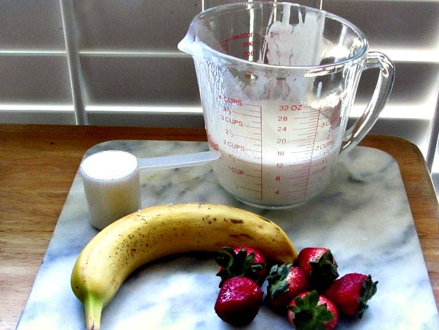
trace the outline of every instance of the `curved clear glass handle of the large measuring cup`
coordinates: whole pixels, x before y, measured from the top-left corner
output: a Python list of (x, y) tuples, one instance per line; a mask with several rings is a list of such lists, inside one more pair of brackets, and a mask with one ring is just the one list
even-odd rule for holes
[(395, 69), (390, 58), (378, 51), (371, 51), (368, 53), (363, 71), (367, 69), (379, 69), (377, 85), (363, 115), (344, 133), (340, 152), (351, 150), (364, 139), (377, 121), (379, 113), (388, 102), (390, 91), (392, 91)]

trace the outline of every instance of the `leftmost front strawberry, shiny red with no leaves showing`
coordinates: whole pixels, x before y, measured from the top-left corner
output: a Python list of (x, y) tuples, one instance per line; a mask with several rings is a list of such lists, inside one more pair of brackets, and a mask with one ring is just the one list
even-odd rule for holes
[(232, 277), (219, 289), (215, 312), (230, 325), (247, 325), (258, 314), (262, 296), (261, 287), (252, 279)]

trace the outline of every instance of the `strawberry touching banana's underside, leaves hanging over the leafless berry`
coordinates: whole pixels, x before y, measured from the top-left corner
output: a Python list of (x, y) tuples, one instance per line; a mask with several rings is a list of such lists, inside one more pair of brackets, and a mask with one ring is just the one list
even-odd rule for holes
[(262, 285), (267, 270), (267, 260), (261, 252), (248, 246), (224, 247), (216, 257), (219, 265), (217, 276), (221, 277), (219, 286), (234, 276), (245, 276)]

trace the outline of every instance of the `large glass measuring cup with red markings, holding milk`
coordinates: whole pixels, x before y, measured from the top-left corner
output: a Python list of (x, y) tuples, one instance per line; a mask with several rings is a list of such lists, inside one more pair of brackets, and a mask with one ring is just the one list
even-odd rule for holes
[[(340, 152), (372, 128), (394, 66), (352, 23), (293, 3), (219, 5), (191, 22), (178, 48), (193, 57), (219, 183), (256, 207), (318, 195)], [(379, 69), (363, 115), (346, 130), (361, 72)]]

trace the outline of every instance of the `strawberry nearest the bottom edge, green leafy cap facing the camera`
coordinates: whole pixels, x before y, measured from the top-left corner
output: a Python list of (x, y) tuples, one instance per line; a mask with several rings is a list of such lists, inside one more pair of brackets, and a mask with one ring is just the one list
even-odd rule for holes
[(332, 330), (338, 323), (338, 311), (330, 300), (313, 290), (292, 300), (287, 318), (297, 330)]

